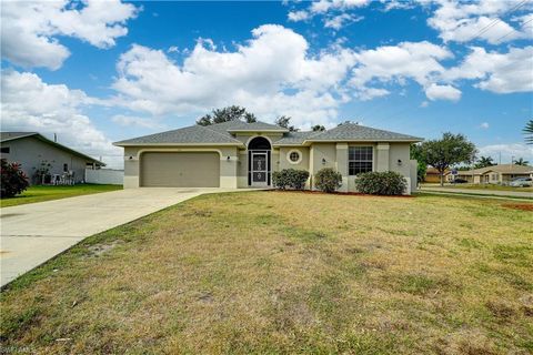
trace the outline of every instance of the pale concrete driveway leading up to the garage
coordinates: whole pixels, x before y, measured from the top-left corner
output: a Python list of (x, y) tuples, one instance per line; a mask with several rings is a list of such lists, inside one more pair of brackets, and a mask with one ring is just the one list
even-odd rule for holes
[(204, 193), (237, 189), (129, 189), (0, 209), (1, 286), (81, 240)]

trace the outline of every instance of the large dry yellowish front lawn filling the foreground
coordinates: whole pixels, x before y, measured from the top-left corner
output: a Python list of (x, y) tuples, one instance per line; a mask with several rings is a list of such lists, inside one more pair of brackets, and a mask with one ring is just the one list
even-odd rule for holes
[(1, 294), (41, 354), (531, 354), (533, 213), (501, 201), (205, 195)]

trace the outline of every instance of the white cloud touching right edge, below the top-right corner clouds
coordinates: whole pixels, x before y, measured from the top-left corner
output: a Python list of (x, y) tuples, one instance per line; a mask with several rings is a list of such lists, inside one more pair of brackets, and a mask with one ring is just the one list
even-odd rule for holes
[(476, 88), (496, 93), (533, 91), (533, 45), (511, 48), (507, 53), (473, 47), (463, 62), (447, 70), (443, 79), (477, 80)]

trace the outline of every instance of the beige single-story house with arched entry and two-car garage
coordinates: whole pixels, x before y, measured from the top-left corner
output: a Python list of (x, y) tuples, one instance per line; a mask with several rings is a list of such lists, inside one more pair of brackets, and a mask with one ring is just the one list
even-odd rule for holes
[(290, 132), (264, 122), (234, 120), (191, 125), (113, 143), (124, 148), (124, 187), (270, 186), (272, 172), (306, 170), (306, 189), (322, 168), (342, 174), (341, 191), (355, 191), (355, 175), (395, 171), (409, 192), (416, 186), (410, 144), (421, 139), (343, 123), (319, 132)]

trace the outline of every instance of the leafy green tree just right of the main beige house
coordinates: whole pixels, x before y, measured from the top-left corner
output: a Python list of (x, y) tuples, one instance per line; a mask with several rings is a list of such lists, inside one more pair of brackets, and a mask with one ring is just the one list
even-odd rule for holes
[(446, 132), (440, 140), (425, 141), (420, 144), (421, 156), (435, 168), (441, 176), (441, 186), (444, 185), (444, 171), (452, 165), (471, 163), (476, 153), (474, 143), (463, 134)]

